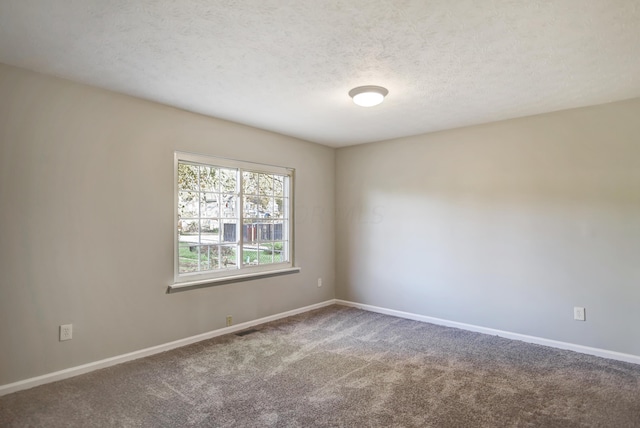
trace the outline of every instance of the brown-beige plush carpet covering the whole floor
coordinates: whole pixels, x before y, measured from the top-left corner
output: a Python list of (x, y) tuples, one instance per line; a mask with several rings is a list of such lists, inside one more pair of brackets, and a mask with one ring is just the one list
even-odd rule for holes
[(0, 397), (2, 427), (640, 427), (640, 366), (331, 306)]

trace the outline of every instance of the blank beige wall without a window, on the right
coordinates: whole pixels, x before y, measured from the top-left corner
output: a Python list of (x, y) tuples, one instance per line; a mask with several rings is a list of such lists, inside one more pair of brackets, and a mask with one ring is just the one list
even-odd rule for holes
[(337, 297), (640, 355), (639, 118), (635, 99), (339, 149)]

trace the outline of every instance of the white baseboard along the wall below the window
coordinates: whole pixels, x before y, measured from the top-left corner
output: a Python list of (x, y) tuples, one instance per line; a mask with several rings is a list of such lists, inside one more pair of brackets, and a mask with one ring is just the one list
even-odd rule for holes
[(316, 303), (314, 305), (305, 306), (303, 308), (293, 309), (291, 311), (282, 312), (279, 314), (271, 315), (264, 318), (259, 318), (253, 321), (243, 322), (231, 327), (224, 327), (218, 330), (209, 331), (207, 333), (198, 334), (196, 336), (187, 337), (184, 339), (176, 340), (173, 342), (165, 343), (162, 345), (152, 346), (151, 348), (141, 349), (139, 351), (129, 352), (128, 354), (117, 355), (115, 357), (106, 358), (100, 361), (94, 361), (92, 363), (83, 364), (81, 366), (70, 367), (68, 369), (60, 370), (53, 373), (47, 373), (42, 376), (32, 377), (29, 379), (21, 380), (6, 385), (0, 385), (0, 396), (11, 394), (12, 392), (21, 391), (23, 389), (33, 388), (38, 385), (44, 385), (45, 383), (56, 382), (58, 380), (68, 379), (70, 377), (78, 376), (84, 373), (89, 373), (94, 370), (103, 369), (105, 367), (115, 366), (127, 361), (137, 360), (138, 358), (148, 357), (150, 355), (159, 354), (160, 352), (169, 351), (171, 349), (179, 348), (181, 346), (190, 345), (192, 343), (200, 342), (202, 340), (211, 339), (213, 337), (222, 336), (224, 334), (234, 333), (236, 331), (244, 330), (249, 327), (256, 326), (258, 324), (264, 324), (266, 322), (279, 320), (281, 318), (298, 315), (304, 312), (312, 311), (314, 309), (323, 308), (335, 304), (335, 299), (327, 300), (325, 302)]

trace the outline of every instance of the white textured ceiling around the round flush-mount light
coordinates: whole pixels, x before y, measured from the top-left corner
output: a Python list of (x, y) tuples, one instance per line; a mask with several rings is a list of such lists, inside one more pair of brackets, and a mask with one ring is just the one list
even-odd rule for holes
[(339, 147), (638, 97), (640, 1), (0, 0), (0, 62)]

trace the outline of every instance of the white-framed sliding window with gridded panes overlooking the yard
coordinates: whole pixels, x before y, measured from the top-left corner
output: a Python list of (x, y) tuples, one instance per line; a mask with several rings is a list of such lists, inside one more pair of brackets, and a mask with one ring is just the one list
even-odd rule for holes
[(173, 288), (288, 273), (292, 169), (180, 152), (174, 163)]

